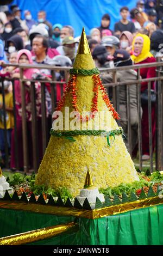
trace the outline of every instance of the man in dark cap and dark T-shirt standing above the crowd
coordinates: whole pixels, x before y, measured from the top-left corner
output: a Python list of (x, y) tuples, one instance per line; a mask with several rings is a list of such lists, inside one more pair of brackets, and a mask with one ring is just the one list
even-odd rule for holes
[(120, 10), (120, 14), (122, 19), (115, 23), (114, 31), (116, 35), (120, 35), (123, 31), (129, 31), (131, 33), (135, 33), (135, 26), (134, 23), (127, 20), (129, 16), (129, 9), (128, 7), (122, 7)]

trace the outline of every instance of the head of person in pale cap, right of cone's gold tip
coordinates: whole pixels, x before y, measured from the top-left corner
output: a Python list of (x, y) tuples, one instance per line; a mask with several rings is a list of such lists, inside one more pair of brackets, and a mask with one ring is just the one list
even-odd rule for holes
[(113, 56), (115, 51), (120, 47), (120, 40), (114, 35), (105, 36), (101, 44), (106, 47), (109, 55)]

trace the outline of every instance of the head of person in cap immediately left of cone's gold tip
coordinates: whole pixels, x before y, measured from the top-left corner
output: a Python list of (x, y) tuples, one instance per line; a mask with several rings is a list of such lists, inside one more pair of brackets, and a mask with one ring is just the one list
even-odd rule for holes
[(61, 55), (67, 56), (68, 58), (70, 58), (73, 63), (74, 58), (76, 56), (76, 41), (72, 36), (66, 36), (62, 40), (62, 45), (57, 47), (57, 51)]

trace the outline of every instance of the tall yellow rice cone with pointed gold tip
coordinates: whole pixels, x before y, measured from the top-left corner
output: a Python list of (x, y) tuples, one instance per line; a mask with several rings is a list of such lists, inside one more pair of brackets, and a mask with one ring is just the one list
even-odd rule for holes
[[(84, 29), (73, 68), (86, 70), (95, 68)], [(77, 99), (80, 114), (82, 114), (82, 111), (91, 110), (94, 96), (93, 87), (92, 75), (77, 75)], [(74, 110), (70, 93), (67, 94), (65, 107), (69, 107), (70, 112)], [(64, 107), (61, 111), (65, 124)], [(100, 126), (99, 129), (95, 130), (111, 131), (118, 129), (118, 125), (112, 117), (112, 112), (106, 107), (102, 92), (99, 90), (98, 112), (101, 111), (105, 115), (104, 118), (99, 117)], [(87, 125), (91, 122), (95, 125), (95, 120), (93, 119), (88, 121)], [(65, 126), (63, 130), (67, 130)], [(36, 176), (36, 184), (45, 184), (53, 188), (59, 186), (67, 187), (73, 196), (77, 196), (79, 190), (84, 186), (88, 168), (91, 172), (93, 183), (98, 188), (113, 187), (122, 182), (128, 183), (139, 180), (134, 163), (121, 135), (115, 135), (114, 141), (110, 137), (110, 147), (107, 144), (106, 137), (102, 136), (79, 135), (73, 138), (76, 139), (75, 142), (71, 142), (64, 137), (51, 136)]]

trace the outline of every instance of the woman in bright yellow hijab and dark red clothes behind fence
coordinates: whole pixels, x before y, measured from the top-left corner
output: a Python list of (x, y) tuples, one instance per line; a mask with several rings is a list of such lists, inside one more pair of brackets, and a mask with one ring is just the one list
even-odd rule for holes
[[(156, 62), (152, 53), (150, 52), (150, 39), (147, 35), (137, 34), (133, 40), (133, 55), (131, 56), (134, 64), (147, 64)], [(140, 69), (142, 78), (152, 78), (156, 76), (156, 68)], [(148, 88), (148, 82), (141, 83), (141, 93)], [(151, 82), (151, 89), (155, 89), (154, 81)], [(148, 128), (148, 103), (142, 105), (142, 160), (149, 159), (149, 128)], [(152, 142), (154, 149), (154, 135), (155, 135), (155, 105), (152, 104)]]

